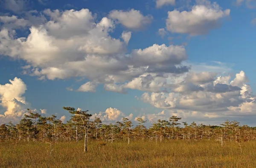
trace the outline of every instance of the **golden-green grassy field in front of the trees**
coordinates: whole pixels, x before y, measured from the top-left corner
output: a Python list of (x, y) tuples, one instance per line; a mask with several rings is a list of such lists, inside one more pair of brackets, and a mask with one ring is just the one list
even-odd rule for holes
[(254, 168), (256, 141), (226, 142), (221, 148), (214, 140), (165, 140), (88, 143), (0, 142), (0, 167), (3, 168), (79, 168), (79, 167), (170, 167), (170, 168)]

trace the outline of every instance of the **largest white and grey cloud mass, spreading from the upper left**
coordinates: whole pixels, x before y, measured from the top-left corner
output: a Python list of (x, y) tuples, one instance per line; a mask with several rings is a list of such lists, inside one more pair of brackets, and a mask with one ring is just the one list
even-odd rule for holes
[[(3, 24), (0, 54), (26, 61), (23, 74), (36, 76), (40, 80), (82, 77), (89, 81), (76, 91), (96, 91), (97, 84), (104, 84), (107, 91), (119, 93), (126, 93), (125, 88), (156, 91), (164, 88), (165, 82), (161, 77), (183, 74), (190, 69), (183, 65), (187, 59), (184, 46), (153, 44), (126, 53), (131, 32), (123, 31), (120, 39), (111, 37), (116, 22), (107, 17), (96, 22), (88, 9), (46, 9), (41, 17), (33, 17), (33, 22), (27, 20), (26, 26), (21, 25), (29, 27), (30, 33), (27, 37), (17, 38), (17, 25), (22, 23), (22, 19), (12, 16), (0, 20), (5, 23), (18, 20), (16, 26)], [(148, 74), (156, 80), (134, 86), (140, 79), (148, 80)], [(148, 76), (147, 79), (144, 79), (145, 76)]]

